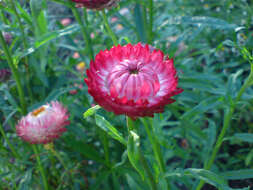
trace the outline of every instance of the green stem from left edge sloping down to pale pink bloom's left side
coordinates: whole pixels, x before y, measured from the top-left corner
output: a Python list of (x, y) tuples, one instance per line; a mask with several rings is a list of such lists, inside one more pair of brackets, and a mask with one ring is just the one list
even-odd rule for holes
[(21, 81), (20, 81), (20, 76), (19, 76), (17, 67), (14, 65), (10, 50), (7, 47), (6, 43), (5, 43), (2, 32), (0, 32), (0, 44), (3, 47), (4, 53), (5, 53), (6, 58), (7, 58), (7, 62), (9, 64), (9, 67), (11, 68), (12, 74), (13, 74), (14, 79), (16, 81), (18, 95), (19, 95), (20, 104), (21, 104), (21, 112), (22, 112), (23, 115), (25, 115), (27, 110), (26, 110), (26, 104), (25, 104), (25, 96), (24, 96), (24, 92), (23, 92), (23, 89), (22, 89)]

